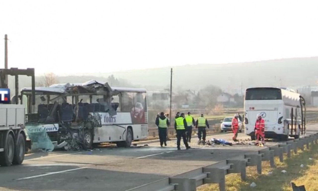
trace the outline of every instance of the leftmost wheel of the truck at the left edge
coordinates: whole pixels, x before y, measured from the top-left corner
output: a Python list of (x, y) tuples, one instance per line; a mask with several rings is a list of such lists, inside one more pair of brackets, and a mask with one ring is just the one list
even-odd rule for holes
[(14, 138), (9, 134), (6, 138), (4, 152), (0, 152), (0, 165), (10, 166), (14, 157)]

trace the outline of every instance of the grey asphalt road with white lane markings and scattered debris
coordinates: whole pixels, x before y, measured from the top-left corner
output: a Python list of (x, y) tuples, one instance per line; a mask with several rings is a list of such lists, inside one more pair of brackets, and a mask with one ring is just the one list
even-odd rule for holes
[[(308, 134), (317, 131), (318, 125), (308, 125)], [(212, 135), (207, 139), (212, 137), (230, 140), (232, 134)], [(249, 137), (239, 133), (238, 138)], [(175, 142), (172, 140), (162, 148), (158, 143), (151, 143), (130, 148), (108, 146), (85, 152), (31, 153), (22, 165), (0, 167), (0, 190), (125, 191), (259, 149), (253, 145), (198, 145), (197, 138), (193, 137), (193, 149), (183, 147), (177, 151)], [(277, 142), (266, 143), (274, 144)]]

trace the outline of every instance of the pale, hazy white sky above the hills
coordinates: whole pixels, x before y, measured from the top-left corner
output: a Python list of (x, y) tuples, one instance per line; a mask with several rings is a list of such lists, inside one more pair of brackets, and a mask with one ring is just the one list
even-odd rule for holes
[(93, 73), (318, 55), (317, 1), (0, 0), (0, 63)]

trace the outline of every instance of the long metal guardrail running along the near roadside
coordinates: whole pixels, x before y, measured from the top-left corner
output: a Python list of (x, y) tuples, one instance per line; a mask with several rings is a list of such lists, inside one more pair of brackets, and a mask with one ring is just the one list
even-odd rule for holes
[(203, 184), (218, 183), (219, 190), (225, 191), (225, 175), (240, 173), (241, 179), (246, 179), (246, 166), (257, 166), (257, 172), (262, 173), (262, 161), (270, 161), (274, 167), (274, 157), (279, 157), (283, 162), (283, 153), (290, 158), (291, 150), (297, 153), (297, 149), (309, 149), (309, 144), (318, 144), (318, 133), (287, 141), (278, 145), (261, 149), (255, 152), (241, 154), (231, 159), (222, 160), (216, 164), (197, 168), (169, 178), (164, 178), (127, 191), (196, 191)]

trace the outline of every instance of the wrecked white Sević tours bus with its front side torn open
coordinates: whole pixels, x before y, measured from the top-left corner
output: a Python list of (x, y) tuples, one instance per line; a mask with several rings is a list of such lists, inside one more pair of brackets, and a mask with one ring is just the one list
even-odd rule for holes
[(148, 136), (147, 92), (115, 88), (100, 81), (54, 84), (21, 90), (26, 107), (26, 132), (33, 148), (79, 150), (93, 144), (129, 147)]

